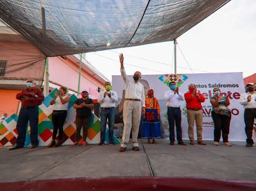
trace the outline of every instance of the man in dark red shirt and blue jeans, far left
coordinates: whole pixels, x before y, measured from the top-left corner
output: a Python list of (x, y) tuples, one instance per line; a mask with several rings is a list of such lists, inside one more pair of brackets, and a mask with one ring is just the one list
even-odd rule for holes
[(25, 134), (27, 131), (27, 123), (31, 127), (30, 139), (31, 148), (38, 146), (38, 106), (45, 100), (41, 89), (36, 88), (36, 83), (32, 78), (27, 79), (27, 88), (16, 95), (16, 99), (22, 101), (22, 108), (18, 115), (17, 131), (18, 138), (9, 150), (23, 148), (25, 143)]

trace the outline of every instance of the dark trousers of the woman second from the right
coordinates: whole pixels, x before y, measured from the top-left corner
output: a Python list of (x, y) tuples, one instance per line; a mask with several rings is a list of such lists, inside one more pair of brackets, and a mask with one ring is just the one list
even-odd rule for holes
[(231, 124), (231, 117), (220, 115), (211, 111), (211, 117), (214, 122), (214, 141), (219, 142), (222, 133), (223, 143), (229, 142), (229, 126)]

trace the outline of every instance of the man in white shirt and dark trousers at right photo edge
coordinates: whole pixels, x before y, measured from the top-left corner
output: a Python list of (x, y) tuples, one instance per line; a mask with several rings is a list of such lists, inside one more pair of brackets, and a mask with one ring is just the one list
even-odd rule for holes
[(254, 83), (246, 84), (247, 93), (242, 94), (240, 97), (240, 104), (245, 108), (245, 134), (246, 134), (246, 147), (253, 146), (252, 131), (253, 122), (256, 118), (256, 92)]

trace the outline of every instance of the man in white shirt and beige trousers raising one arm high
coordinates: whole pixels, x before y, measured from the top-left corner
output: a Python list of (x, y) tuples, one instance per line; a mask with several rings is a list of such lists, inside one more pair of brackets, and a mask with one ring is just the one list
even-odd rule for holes
[(137, 141), (139, 132), (139, 122), (141, 120), (141, 108), (145, 110), (145, 93), (144, 87), (139, 83), (141, 73), (136, 71), (133, 80), (127, 78), (124, 70), (124, 56), (119, 55), (121, 74), (125, 82), (125, 101), (124, 101), (124, 132), (120, 152), (125, 152), (129, 142), (132, 129), (132, 150), (139, 151), (139, 143)]

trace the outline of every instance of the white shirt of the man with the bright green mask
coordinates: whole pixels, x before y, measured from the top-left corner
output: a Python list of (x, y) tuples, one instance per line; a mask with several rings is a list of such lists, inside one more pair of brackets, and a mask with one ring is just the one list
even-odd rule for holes
[(104, 91), (99, 93), (98, 97), (98, 103), (101, 104), (101, 108), (113, 108), (115, 107), (115, 103), (117, 103), (118, 97), (117, 97), (117, 92), (110, 90), (111, 96), (104, 97)]

